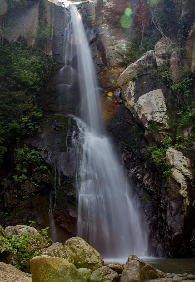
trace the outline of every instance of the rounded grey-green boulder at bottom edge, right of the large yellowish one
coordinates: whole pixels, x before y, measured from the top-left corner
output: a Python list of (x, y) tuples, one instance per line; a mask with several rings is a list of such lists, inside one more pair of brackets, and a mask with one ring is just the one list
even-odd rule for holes
[(118, 279), (119, 275), (116, 271), (108, 266), (102, 266), (92, 272), (89, 282), (117, 282)]

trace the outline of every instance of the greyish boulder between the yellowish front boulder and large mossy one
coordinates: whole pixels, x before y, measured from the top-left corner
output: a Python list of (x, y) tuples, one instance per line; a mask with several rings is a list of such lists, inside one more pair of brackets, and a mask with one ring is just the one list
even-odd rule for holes
[(41, 249), (42, 253), (44, 255), (50, 256), (50, 257), (62, 257), (64, 259), (67, 259), (68, 262), (74, 264), (74, 259), (69, 254), (66, 249), (64, 248), (62, 243), (56, 242), (53, 243), (48, 248)]

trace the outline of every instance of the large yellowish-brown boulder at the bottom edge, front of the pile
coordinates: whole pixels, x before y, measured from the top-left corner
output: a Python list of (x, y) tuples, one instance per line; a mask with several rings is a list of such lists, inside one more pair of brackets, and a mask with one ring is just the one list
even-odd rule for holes
[(30, 260), (32, 282), (87, 282), (74, 264), (61, 257), (37, 256)]

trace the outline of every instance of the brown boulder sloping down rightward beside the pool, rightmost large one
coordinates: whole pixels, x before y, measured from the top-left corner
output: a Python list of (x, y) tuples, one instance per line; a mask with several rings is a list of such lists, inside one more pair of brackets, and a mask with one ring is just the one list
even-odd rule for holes
[[(153, 266), (151, 266), (150, 264), (147, 264), (144, 260), (138, 258), (136, 255), (130, 255), (128, 257), (128, 261), (129, 262), (139, 262), (140, 267), (141, 267), (141, 278), (142, 279), (155, 279), (155, 278), (163, 278), (166, 276), (166, 274), (156, 268), (154, 268)], [(123, 273), (122, 273), (123, 274)]]

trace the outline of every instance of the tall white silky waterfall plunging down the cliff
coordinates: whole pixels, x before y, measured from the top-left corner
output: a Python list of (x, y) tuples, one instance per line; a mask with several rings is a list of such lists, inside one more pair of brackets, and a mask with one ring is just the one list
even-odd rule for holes
[(103, 132), (96, 75), (82, 19), (77, 8), (71, 2), (66, 3), (77, 49), (80, 116), (85, 121), (75, 117), (79, 134), (73, 138), (73, 144), (80, 144), (83, 152), (78, 173), (78, 236), (104, 258), (127, 259), (131, 253), (143, 256), (147, 248), (145, 228), (133, 204), (123, 168)]

